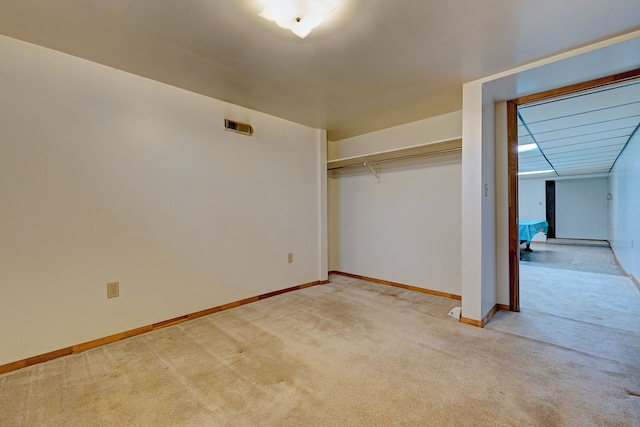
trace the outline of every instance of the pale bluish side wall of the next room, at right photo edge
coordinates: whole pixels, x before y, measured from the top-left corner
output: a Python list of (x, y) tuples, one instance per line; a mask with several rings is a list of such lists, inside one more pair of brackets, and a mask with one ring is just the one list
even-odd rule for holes
[(618, 158), (609, 178), (611, 246), (628, 274), (640, 279), (640, 133)]

